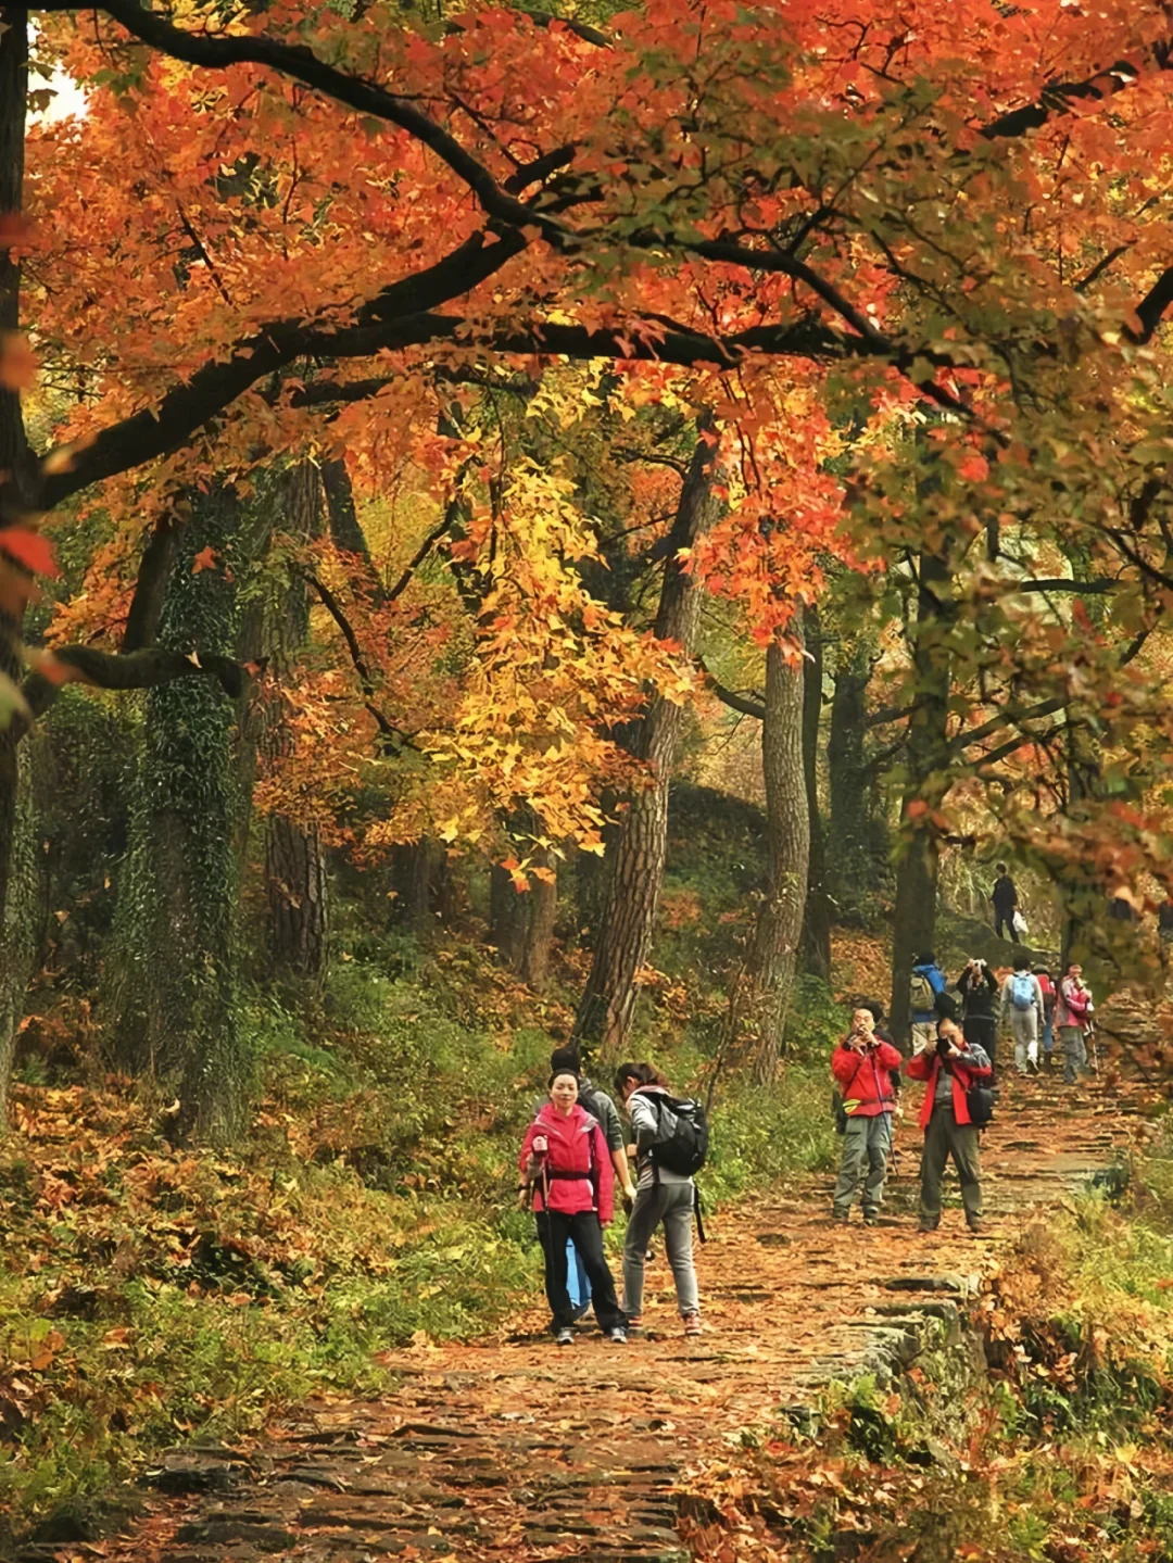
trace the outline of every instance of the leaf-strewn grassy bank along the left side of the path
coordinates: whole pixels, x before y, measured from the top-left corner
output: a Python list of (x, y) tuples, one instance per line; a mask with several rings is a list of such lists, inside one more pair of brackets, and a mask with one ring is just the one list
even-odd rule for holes
[[(0, 1519), (16, 1533), (84, 1535), (159, 1450), (239, 1438), (306, 1396), (389, 1393), (383, 1350), (508, 1327), (540, 1296), (515, 1157), (565, 1003), (470, 944), (344, 939), (312, 1005), (245, 994), (258, 1105), (231, 1150), (172, 1144), (170, 1103), (97, 1060), (25, 1060), (0, 1147)], [(820, 1002), (811, 1024), (829, 1030), (772, 1088), (718, 1074), (711, 1205), (831, 1164), (840, 1014)], [(712, 1046), (701, 1024), (670, 1046), (645, 1032), (636, 1052), (700, 1091)]]

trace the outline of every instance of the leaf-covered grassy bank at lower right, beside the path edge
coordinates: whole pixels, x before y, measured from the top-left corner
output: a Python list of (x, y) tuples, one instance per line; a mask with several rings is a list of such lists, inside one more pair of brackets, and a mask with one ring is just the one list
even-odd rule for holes
[(1028, 1229), (901, 1377), (747, 1430), (689, 1499), (697, 1558), (1170, 1563), (1173, 1208), (1162, 1155), (1132, 1171), (1123, 1208)]

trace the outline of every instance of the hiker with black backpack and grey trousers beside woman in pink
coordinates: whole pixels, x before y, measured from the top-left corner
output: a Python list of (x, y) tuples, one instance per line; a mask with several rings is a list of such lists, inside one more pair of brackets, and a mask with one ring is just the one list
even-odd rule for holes
[[(709, 1125), (700, 1102), (675, 1097), (651, 1064), (620, 1064), (615, 1091), (636, 1136), (636, 1205), (623, 1244), (623, 1313), (631, 1329), (644, 1322), (644, 1264), (656, 1227), (676, 1282), (676, 1304), (684, 1333), (701, 1333), (697, 1268), (692, 1261), (692, 1225), (697, 1216), (693, 1174), (709, 1152)], [(701, 1232), (701, 1239), (704, 1233)]]

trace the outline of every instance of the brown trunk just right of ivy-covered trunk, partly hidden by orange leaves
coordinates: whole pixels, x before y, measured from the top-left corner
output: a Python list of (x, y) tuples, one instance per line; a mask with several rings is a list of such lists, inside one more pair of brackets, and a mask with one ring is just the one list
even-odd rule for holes
[[(298, 542), (322, 533), (322, 478), (312, 461), (298, 461), (275, 483), (284, 531)], [(294, 577), (270, 616), (266, 652), (276, 680), (284, 685), (309, 633), (309, 594)], [(272, 766), (291, 750), (286, 691), (276, 689), (262, 713), (261, 749)], [(278, 975), (317, 985), (326, 972), (330, 936), (330, 874), (322, 833), (286, 814), (264, 824), (266, 903), (269, 950)]]

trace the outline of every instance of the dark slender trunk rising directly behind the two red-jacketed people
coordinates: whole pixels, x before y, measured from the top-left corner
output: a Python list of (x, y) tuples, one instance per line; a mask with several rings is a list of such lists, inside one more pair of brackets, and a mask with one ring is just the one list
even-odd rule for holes
[(951, 786), (948, 750), (951, 575), (945, 560), (922, 553), (914, 631), (915, 710), (909, 719), (907, 783), (901, 802), (897, 905), (892, 917), (892, 1035), (907, 1043), (909, 983), (937, 932), (939, 830), (932, 814)]

